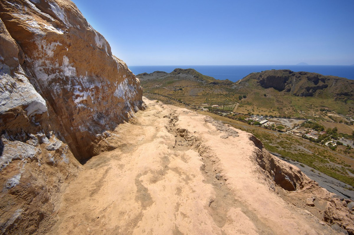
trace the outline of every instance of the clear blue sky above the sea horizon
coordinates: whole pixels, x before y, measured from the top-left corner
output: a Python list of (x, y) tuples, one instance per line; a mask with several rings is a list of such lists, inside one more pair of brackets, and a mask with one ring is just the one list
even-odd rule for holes
[(354, 0), (73, 0), (128, 65), (354, 64)]

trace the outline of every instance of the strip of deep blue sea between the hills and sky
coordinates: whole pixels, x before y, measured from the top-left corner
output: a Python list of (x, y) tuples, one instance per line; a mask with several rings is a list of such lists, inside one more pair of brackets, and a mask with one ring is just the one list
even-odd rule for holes
[(216, 79), (238, 81), (253, 72), (270, 69), (290, 69), (295, 72), (306, 71), (323, 75), (333, 75), (347, 79), (354, 79), (353, 65), (144, 65), (129, 66), (134, 74), (165, 71), (171, 73), (174, 69), (192, 68), (199, 73)]

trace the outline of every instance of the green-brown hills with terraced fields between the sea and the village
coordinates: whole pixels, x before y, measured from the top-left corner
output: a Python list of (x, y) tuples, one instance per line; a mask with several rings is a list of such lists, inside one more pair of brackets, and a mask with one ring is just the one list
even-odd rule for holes
[(171, 73), (155, 71), (138, 74), (137, 77), (144, 92), (161, 94), (196, 106), (238, 103), (239, 113), (338, 122), (347, 121), (341, 115), (354, 115), (354, 81), (335, 76), (267, 70), (251, 73), (234, 83), (216, 80), (194, 69), (175, 69)]

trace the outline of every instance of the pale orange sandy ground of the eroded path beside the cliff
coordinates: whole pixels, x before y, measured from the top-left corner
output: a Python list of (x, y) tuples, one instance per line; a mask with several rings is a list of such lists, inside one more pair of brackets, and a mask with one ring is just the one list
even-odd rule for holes
[(305, 201), (270, 187), (251, 134), (144, 101), (148, 108), (107, 138), (117, 148), (92, 157), (70, 183), (50, 234), (336, 234)]

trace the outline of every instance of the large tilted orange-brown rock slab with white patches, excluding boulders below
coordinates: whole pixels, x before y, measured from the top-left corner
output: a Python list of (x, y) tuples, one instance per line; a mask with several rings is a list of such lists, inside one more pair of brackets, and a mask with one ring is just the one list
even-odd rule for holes
[(96, 155), (95, 135), (141, 108), (138, 80), (73, 2), (1, 1), (0, 10), (17, 48), (12, 66), (21, 66), (46, 101), (27, 109), (33, 114), (48, 110), (51, 127), (78, 160)]

